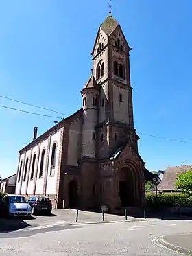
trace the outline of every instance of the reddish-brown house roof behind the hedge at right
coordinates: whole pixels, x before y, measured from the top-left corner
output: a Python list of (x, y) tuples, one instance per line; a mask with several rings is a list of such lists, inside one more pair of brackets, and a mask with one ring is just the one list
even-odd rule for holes
[(176, 178), (177, 174), (181, 174), (183, 172), (188, 172), (192, 169), (192, 165), (180, 165), (180, 166), (172, 166), (167, 167), (165, 170), (165, 174), (163, 175), (162, 181), (158, 187), (160, 191), (176, 191)]

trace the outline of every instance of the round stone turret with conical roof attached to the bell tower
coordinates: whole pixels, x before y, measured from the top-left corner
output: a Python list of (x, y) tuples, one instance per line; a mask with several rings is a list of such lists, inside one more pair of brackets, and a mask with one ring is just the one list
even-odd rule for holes
[(95, 158), (97, 126), (98, 85), (93, 75), (84, 86), (82, 93), (83, 126), (82, 126), (82, 159)]

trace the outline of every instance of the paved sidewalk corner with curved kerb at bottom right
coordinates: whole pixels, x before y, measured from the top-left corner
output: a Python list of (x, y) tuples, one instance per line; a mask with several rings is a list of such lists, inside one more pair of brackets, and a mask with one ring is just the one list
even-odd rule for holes
[(159, 238), (160, 244), (178, 253), (192, 255), (192, 233), (178, 235), (163, 235)]

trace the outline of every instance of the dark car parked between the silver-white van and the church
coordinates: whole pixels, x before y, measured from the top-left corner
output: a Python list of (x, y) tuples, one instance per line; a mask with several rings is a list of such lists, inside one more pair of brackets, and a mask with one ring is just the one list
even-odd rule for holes
[(51, 214), (52, 204), (51, 200), (45, 196), (32, 196), (28, 200), (32, 207), (32, 214), (36, 215), (38, 213)]

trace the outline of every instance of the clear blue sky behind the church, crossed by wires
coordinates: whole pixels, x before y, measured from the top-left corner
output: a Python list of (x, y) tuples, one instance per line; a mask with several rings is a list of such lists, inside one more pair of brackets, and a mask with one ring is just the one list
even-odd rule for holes
[[(131, 52), (134, 124), (139, 152), (149, 170), (192, 163), (192, 1), (112, 0)], [(0, 95), (66, 115), (82, 104), (80, 90), (91, 74), (99, 25), (108, 15), (107, 0), (1, 0)], [(11, 102), (0, 104), (54, 114)], [(18, 151), (53, 126), (56, 118), (0, 107), (0, 174), (17, 169)]]

